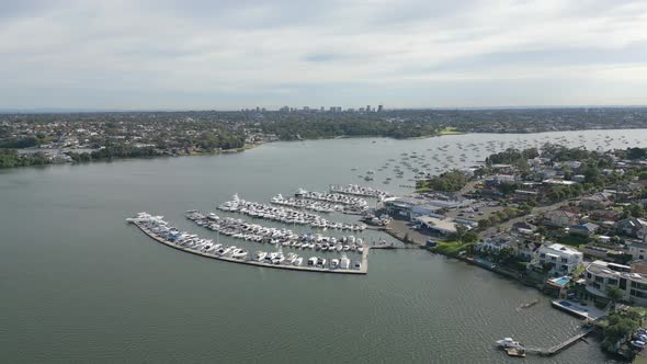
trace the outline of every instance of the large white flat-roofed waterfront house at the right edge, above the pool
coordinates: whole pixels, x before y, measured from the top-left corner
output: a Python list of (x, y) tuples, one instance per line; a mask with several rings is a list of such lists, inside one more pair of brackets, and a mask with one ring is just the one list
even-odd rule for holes
[(609, 287), (616, 287), (623, 293), (623, 300), (647, 306), (647, 275), (628, 265), (592, 262), (587, 266), (586, 287), (589, 294), (602, 299), (609, 299)]

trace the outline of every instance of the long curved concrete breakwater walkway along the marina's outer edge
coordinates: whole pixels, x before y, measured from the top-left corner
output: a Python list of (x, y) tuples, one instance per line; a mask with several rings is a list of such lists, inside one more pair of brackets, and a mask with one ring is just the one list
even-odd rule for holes
[(366, 273), (368, 273), (368, 251), (371, 250), (371, 247), (368, 247), (368, 246), (364, 247), (364, 251), (362, 252), (362, 266), (359, 270), (355, 270), (355, 269), (331, 270), (331, 269), (327, 269), (327, 268), (316, 268), (316, 266), (300, 266), (300, 265), (295, 266), (295, 265), (269, 264), (269, 263), (257, 262), (257, 261), (252, 261), (252, 260), (241, 260), (241, 259), (229, 258), (229, 257), (212, 255), (212, 254), (203, 253), (201, 251), (195, 251), (192, 249), (179, 247), (179, 246), (175, 246), (174, 243), (171, 243), (171, 242), (162, 239), (161, 237), (157, 236), (155, 232), (150, 231), (149, 229), (141, 226), (140, 224), (137, 224), (136, 221), (133, 221), (133, 225), (138, 227), (139, 230), (141, 230), (144, 234), (146, 234), (149, 238), (156, 240), (157, 242), (161, 242), (162, 244), (164, 244), (167, 247), (182, 250), (182, 251), (185, 251), (191, 254), (201, 255), (204, 258), (216, 259), (216, 260), (226, 261), (226, 262), (230, 262), (230, 263), (264, 266), (264, 268), (272, 268), (272, 269), (282, 269), (282, 270), (290, 270), (290, 271), (300, 271), (300, 272), (337, 273), (337, 274), (366, 274)]

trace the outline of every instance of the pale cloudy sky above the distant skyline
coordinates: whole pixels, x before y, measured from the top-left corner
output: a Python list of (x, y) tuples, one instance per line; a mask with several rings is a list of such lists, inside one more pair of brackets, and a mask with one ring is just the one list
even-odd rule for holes
[(0, 1), (0, 109), (366, 104), (647, 105), (647, 1)]

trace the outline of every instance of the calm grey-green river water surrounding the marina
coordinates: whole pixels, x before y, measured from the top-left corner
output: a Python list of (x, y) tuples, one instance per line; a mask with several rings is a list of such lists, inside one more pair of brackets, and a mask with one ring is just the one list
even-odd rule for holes
[[(148, 211), (216, 239), (185, 220), (184, 211), (213, 212), (235, 192), (266, 202), (329, 183), (409, 191), (398, 185), (412, 182), (382, 183), (390, 168), (376, 171), (372, 183), (357, 174), (443, 145), (468, 155), (454, 167), (488, 153), (459, 150), (458, 143), (496, 140), (500, 149), (564, 137), (572, 146), (625, 148), (646, 136), (592, 130), (276, 143), (227, 156), (1, 171), (0, 362), (518, 362), (493, 341), (512, 335), (550, 346), (580, 321), (550, 308), (535, 289), (486, 270), (418, 250), (371, 252), (366, 276), (259, 269), (179, 252), (124, 218)], [(541, 303), (517, 310), (534, 299)], [(556, 357), (525, 361), (606, 359), (598, 345), (578, 343)]]

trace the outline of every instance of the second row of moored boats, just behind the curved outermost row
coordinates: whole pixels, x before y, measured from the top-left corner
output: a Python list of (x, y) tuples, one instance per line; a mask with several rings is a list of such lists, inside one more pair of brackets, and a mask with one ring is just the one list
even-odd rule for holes
[(288, 229), (264, 227), (258, 224), (235, 219), (220, 218), (216, 214), (204, 215), (196, 209), (188, 211), (186, 218), (196, 225), (227, 237), (269, 243), (293, 249), (310, 249), (317, 251), (359, 252), (364, 251), (364, 241), (354, 236), (325, 237), (320, 234), (297, 235)]

